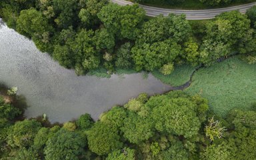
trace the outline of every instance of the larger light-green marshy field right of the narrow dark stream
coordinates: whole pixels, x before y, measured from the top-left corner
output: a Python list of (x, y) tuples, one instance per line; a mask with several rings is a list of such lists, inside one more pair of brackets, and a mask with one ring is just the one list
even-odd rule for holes
[(256, 103), (256, 64), (249, 65), (235, 56), (201, 68), (185, 92), (207, 98), (211, 109), (220, 116), (234, 108), (249, 109)]

